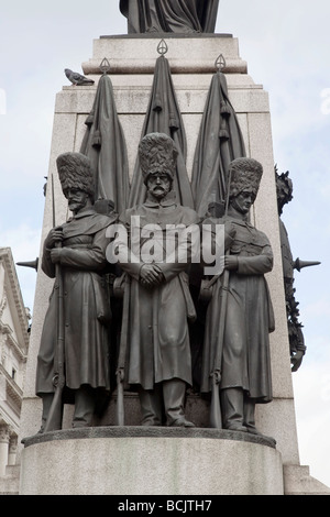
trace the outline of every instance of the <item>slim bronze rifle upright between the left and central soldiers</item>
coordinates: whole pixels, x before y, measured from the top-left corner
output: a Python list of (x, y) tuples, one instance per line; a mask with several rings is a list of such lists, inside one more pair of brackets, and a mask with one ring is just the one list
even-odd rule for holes
[(123, 317), (122, 317), (122, 332), (120, 337), (120, 350), (118, 358), (117, 376), (117, 425), (124, 426), (124, 375), (125, 375), (125, 358), (128, 350), (128, 332), (129, 332), (129, 310), (130, 310), (130, 295), (131, 295), (131, 277), (124, 274), (125, 285), (123, 293)]

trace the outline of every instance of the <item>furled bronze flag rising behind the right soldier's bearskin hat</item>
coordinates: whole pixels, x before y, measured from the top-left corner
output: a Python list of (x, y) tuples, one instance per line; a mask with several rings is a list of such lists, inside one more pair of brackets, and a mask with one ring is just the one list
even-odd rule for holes
[(229, 100), (224, 74), (213, 75), (197, 141), (191, 189), (196, 211), (204, 217), (210, 202), (226, 200), (229, 164), (245, 156), (243, 135)]

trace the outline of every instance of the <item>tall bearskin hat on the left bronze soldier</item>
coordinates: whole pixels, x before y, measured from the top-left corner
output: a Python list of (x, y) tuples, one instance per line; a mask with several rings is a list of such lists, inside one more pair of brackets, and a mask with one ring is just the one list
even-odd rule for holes
[(95, 182), (90, 161), (81, 153), (64, 153), (56, 160), (63, 194), (77, 188), (95, 198)]

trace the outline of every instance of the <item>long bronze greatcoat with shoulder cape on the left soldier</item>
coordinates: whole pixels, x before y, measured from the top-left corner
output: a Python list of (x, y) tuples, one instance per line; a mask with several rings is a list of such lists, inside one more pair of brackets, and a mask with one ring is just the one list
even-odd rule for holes
[[(64, 288), (64, 349), (66, 388), (82, 384), (110, 388), (110, 300), (103, 271), (107, 265), (106, 229), (114, 217), (85, 210), (63, 224), (61, 272)], [(44, 248), (42, 268), (51, 278), (55, 266)], [(37, 355), (36, 394), (53, 393), (54, 354), (57, 346), (58, 283), (55, 280)], [(72, 402), (66, 391), (68, 399)]]

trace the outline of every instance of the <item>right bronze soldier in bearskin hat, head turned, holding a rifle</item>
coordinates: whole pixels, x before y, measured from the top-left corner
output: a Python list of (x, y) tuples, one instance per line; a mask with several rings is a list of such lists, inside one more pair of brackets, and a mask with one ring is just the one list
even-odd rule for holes
[[(273, 268), (273, 253), (267, 237), (249, 222), (262, 174), (255, 160), (234, 160), (229, 167), (227, 215), (205, 221), (224, 223), (231, 243), (208, 306), (201, 392), (220, 389), (224, 429), (252, 433), (258, 432), (255, 404), (273, 398), (268, 333), (274, 330), (274, 314), (264, 277)], [(212, 388), (215, 376), (218, 383)]]

